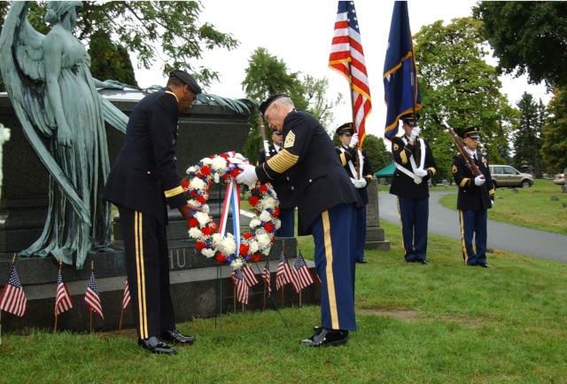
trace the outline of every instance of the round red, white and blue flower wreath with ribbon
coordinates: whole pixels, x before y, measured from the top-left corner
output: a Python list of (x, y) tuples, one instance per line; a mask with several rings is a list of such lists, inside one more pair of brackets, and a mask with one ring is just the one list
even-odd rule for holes
[[(190, 219), (190, 239), (195, 247), (206, 257), (214, 257), (220, 263), (229, 264), (233, 269), (242, 268), (247, 263), (260, 262), (262, 255), (268, 255), (280, 227), (279, 201), (271, 184), (255, 184), (247, 191), (248, 201), (255, 209), (256, 216), (250, 222), (252, 231), (240, 234), (240, 185), (235, 177), (241, 172), (239, 164), (247, 159), (235, 152), (221, 153), (206, 157), (187, 169), (183, 189), (188, 201), (203, 212), (197, 212)], [(209, 188), (213, 184), (227, 184), (219, 225), (209, 215), (206, 204)], [(246, 186), (246, 188), (249, 188)], [(226, 230), (229, 209), (233, 209), (233, 228), (235, 233)]]

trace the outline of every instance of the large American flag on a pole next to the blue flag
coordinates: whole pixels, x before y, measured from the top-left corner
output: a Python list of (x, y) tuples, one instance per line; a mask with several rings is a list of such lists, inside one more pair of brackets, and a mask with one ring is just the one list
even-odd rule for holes
[(369, 77), (364, 64), (361, 31), (353, 1), (339, 1), (330, 45), (329, 67), (346, 77), (353, 94), (354, 127), (360, 146), (366, 137), (366, 118), (372, 110)]

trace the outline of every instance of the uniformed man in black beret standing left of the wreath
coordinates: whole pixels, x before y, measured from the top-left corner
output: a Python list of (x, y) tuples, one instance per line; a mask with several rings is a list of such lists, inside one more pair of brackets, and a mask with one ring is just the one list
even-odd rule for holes
[(178, 114), (200, 92), (190, 74), (176, 70), (166, 90), (143, 98), (130, 114), (124, 145), (105, 184), (104, 199), (120, 213), (138, 344), (152, 353), (175, 354), (165, 341), (193, 342), (175, 330), (166, 225), (167, 205), (178, 208), (188, 222), (198, 210), (183, 193), (174, 142)]

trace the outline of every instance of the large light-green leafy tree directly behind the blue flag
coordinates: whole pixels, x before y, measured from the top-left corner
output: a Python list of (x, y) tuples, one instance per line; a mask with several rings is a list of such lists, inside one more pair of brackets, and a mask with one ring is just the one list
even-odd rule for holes
[[(439, 172), (436, 179), (452, 178), (456, 148), (441, 122), (462, 129), (481, 128), (482, 150), (488, 159), (503, 161), (499, 148), (508, 148), (512, 107), (501, 95), (494, 67), (485, 62), (482, 22), (454, 19), (424, 26), (416, 34), (416, 62), (422, 92), (422, 136), (431, 144)], [(447, 150), (449, 148), (449, 150)]]

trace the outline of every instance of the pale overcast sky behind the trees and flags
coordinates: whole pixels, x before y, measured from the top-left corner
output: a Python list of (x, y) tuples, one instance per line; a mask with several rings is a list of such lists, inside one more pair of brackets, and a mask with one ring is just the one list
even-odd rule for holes
[[(315, 78), (329, 79), (329, 97), (341, 92), (345, 100), (350, 100), (346, 79), (328, 67), (330, 43), (337, 19), (336, 0), (287, 0), (284, 2), (266, 0), (202, 0), (205, 8), (199, 20), (208, 21), (219, 31), (230, 33), (240, 41), (236, 51), (220, 49), (205, 52), (198, 66), (205, 66), (221, 74), (220, 82), (206, 89), (211, 93), (227, 98), (244, 98), (240, 83), (245, 78), (248, 60), (258, 47), (282, 59), (290, 72), (310, 74)], [(454, 18), (471, 15), (476, 4), (471, 0), (409, 0), (408, 12), (412, 34), (420, 27), (437, 20), (447, 24)], [(384, 136), (385, 106), (384, 55), (393, 1), (355, 0), (361, 30), (362, 46), (369, 75), (372, 112), (367, 119), (367, 133)], [(136, 80), (141, 87), (153, 84), (163, 85), (165, 78), (159, 70), (136, 71)], [(419, 76), (419, 74), (418, 74)], [(534, 98), (542, 98), (548, 103), (550, 95), (543, 85), (529, 85), (525, 78), (501, 77), (503, 92), (509, 96), (511, 105), (516, 106), (524, 91)], [(262, 101), (262, 100), (260, 100)], [(423, 106), (426, 108), (427, 106)], [(351, 120), (350, 102), (338, 106), (335, 121), (329, 128)]]

